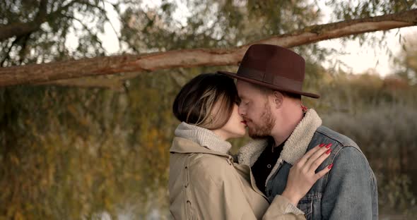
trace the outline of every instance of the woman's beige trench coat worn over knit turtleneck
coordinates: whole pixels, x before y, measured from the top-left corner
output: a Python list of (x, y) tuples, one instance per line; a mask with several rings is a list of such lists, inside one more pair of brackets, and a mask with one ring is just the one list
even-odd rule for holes
[(269, 206), (249, 166), (184, 138), (170, 149), (170, 212), (175, 219), (305, 219), (286, 197)]

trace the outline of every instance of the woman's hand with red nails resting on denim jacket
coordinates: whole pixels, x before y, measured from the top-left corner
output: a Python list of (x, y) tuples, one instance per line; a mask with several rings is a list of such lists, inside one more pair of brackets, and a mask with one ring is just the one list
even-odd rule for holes
[(316, 173), (316, 169), (322, 162), (329, 157), (331, 152), (331, 144), (317, 145), (310, 149), (303, 157), (301, 157), (290, 169), (288, 174), (288, 181), (286, 189), (282, 195), (285, 196), (291, 203), (297, 206), (298, 202), (305, 196), (305, 194), (312, 188), (319, 178), (330, 171), (330, 164), (322, 171)]

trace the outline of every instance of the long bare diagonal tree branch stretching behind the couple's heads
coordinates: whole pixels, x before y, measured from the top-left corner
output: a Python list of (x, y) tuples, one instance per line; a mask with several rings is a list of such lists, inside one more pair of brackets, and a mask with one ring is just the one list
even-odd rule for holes
[[(295, 47), (324, 39), (417, 25), (417, 9), (373, 18), (313, 25), (254, 43)], [(0, 68), (0, 86), (48, 82), (91, 75), (139, 73), (167, 68), (237, 65), (250, 44), (232, 49), (184, 49), (143, 55), (95, 57), (55, 63)]]

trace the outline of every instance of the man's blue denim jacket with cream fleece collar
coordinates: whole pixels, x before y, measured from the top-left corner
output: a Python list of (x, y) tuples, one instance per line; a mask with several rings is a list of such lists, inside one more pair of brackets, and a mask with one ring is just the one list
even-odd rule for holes
[[(266, 179), (266, 197), (271, 201), (283, 193), (291, 166), (305, 152), (331, 143), (331, 155), (317, 170), (329, 164), (333, 168), (312, 186), (298, 208), (306, 219), (378, 219), (377, 181), (365, 155), (353, 140), (321, 124), (317, 113), (308, 110)], [(266, 140), (249, 142), (240, 149), (239, 163), (252, 167), (266, 145)]]

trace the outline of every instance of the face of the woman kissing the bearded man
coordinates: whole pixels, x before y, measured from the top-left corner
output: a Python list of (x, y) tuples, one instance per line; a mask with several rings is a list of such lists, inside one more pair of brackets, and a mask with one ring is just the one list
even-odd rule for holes
[(214, 130), (224, 140), (229, 138), (241, 138), (246, 134), (246, 121), (243, 120), (238, 112), (239, 106), (233, 105), (233, 111), (227, 123), (222, 128)]

